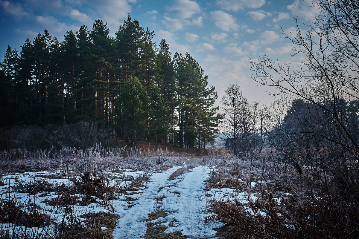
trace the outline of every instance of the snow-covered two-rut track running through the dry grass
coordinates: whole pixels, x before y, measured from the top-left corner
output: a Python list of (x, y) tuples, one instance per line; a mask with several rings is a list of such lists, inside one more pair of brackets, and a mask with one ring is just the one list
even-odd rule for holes
[[(114, 201), (116, 213), (120, 216), (116, 229), (113, 230), (114, 239), (143, 238), (146, 233), (145, 221), (148, 214), (155, 210), (168, 212), (165, 218), (155, 221), (168, 227), (167, 232), (181, 231), (187, 238), (213, 238), (216, 231), (213, 228), (222, 224), (205, 224), (202, 210), (206, 202), (204, 195), (204, 180), (209, 172), (208, 167), (199, 166), (178, 176), (175, 180), (167, 181), (167, 178), (180, 167), (173, 167), (167, 171), (155, 173), (145, 190), (131, 197), (138, 197), (132, 201), (128, 209), (127, 202)], [(174, 186), (173, 186), (174, 185)], [(159, 190), (163, 187), (162, 190)], [(156, 197), (164, 195), (165, 198), (157, 202)], [(171, 224), (171, 226), (169, 226)]]

